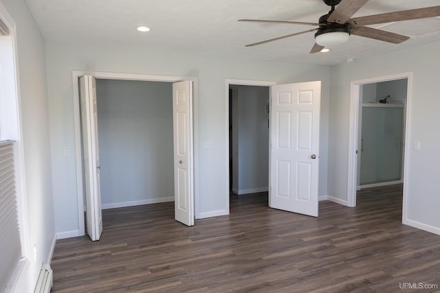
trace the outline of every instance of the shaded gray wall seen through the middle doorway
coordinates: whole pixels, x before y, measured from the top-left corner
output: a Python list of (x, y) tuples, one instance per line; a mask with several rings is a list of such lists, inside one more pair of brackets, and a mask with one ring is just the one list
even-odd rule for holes
[(237, 132), (232, 158), (236, 162), (232, 182), (234, 192), (250, 194), (267, 190), (269, 181), (269, 128), (266, 103), (269, 99), (267, 86), (233, 86), (233, 132)]

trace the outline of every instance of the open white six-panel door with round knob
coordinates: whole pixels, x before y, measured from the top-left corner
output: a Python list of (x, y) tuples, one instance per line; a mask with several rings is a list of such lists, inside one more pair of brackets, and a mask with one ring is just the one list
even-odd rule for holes
[(271, 86), (269, 206), (318, 216), (321, 82)]

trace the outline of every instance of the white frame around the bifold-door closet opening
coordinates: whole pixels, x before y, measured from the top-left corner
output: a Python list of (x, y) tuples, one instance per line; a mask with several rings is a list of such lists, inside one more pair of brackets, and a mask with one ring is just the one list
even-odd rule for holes
[[(106, 80), (140, 80), (147, 82), (179, 82), (182, 80), (191, 80), (193, 84), (193, 133), (194, 141), (198, 141), (198, 79), (191, 77), (172, 76), (172, 75), (146, 75), (135, 73), (111, 73), (99, 71), (72, 71), (72, 86), (74, 97), (74, 130), (75, 130), (75, 159), (76, 159), (76, 190), (78, 196), (78, 236), (85, 235), (84, 222), (84, 198), (83, 198), (83, 156), (81, 154), (81, 124), (80, 124), (80, 101), (78, 78), (83, 75), (91, 75), (94, 78)], [(194, 215), (199, 218), (199, 148), (198, 144), (194, 143)]]

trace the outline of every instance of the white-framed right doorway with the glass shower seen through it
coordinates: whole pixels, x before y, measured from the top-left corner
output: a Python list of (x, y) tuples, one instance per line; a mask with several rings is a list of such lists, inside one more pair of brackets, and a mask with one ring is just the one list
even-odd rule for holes
[(349, 207), (356, 206), (361, 189), (403, 184), (404, 217), (410, 85), (410, 73), (352, 82)]

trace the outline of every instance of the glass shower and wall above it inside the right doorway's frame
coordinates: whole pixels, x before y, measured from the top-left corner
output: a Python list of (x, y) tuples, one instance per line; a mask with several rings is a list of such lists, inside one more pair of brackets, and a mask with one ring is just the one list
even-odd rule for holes
[(362, 84), (358, 190), (403, 183), (408, 80)]

